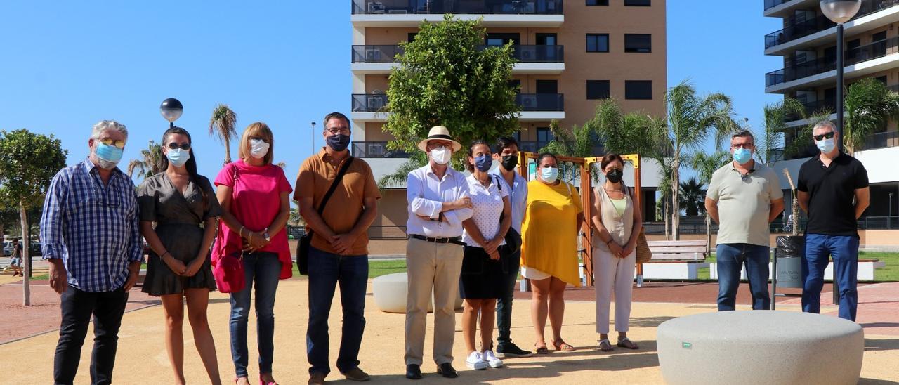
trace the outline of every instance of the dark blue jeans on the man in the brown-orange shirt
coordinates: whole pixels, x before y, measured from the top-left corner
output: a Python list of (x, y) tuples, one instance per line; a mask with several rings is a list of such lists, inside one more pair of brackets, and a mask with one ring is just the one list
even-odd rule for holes
[(334, 289), (340, 284), (343, 305), (343, 333), (337, 370), (350, 372), (359, 367), (359, 347), (365, 329), (365, 291), (369, 282), (368, 255), (336, 255), (309, 248), (309, 326), (306, 330), (306, 354), (309, 374), (327, 375), (328, 314)]

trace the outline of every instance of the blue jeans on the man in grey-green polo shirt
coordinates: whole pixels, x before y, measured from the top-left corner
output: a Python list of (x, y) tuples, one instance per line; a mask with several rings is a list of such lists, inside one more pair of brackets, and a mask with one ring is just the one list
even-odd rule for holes
[(769, 247), (745, 243), (717, 246), (718, 311), (736, 309), (736, 290), (740, 287), (740, 272), (746, 266), (752, 309), (767, 310), (771, 306), (768, 294)]

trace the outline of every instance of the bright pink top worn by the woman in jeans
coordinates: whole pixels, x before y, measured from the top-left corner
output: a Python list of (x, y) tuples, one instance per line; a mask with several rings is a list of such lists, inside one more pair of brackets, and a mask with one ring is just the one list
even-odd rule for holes
[[(243, 160), (229, 163), (218, 172), (216, 186), (231, 188), (231, 214), (251, 231), (263, 231), (280, 212), (281, 193), (290, 193), (293, 187), (279, 166), (249, 166)], [(218, 222), (218, 240), (227, 240), (224, 247), (212, 250), (212, 260), (221, 255), (230, 255), (241, 249), (241, 238), (237, 231), (228, 228), (224, 221)], [(271, 244), (259, 251), (278, 254), (281, 262), (280, 279), (293, 274), (287, 229), (282, 229), (271, 237)]]

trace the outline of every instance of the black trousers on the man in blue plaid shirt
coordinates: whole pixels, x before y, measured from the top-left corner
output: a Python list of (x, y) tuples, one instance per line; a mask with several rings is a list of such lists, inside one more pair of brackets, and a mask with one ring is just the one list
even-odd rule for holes
[(78, 372), (81, 346), (85, 344), (87, 326), (93, 315), (93, 354), (91, 383), (112, 383), (116, 348), (119, 345), (121, 316), (125, 314), (128, 293), (123, 289), (87, 292), (69, 286), (62, 294), (59, 342), (53, 357), (53, 381), (71, 384)]

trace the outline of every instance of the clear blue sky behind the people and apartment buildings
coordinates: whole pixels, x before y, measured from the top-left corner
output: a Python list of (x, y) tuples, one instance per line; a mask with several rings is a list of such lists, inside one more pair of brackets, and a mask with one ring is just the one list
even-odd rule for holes
[[(576, 1), (576, 0), (572, 0)], [(87, 154), (92, 124), (130, 130), (125, 159), (138, 157), (167, 122), (158, 106), (184, 104), (200, 174), (218, 173), (224, 149), (208, 134), (217, 103), (274, 130), (275, 160), (292, 179), (310, 154), (310, 121), (349, 110), (349, 4), (280, 2), (46, 2), (0, 4), (0, 130), (27, 128), (62, 139), (69, 163)], [(668, 1), (668, 83), (734, 99), (738, 117), (761, 127), (765, 72), (761, 0)], [(711, 144), (709, 144), (711, 146)], [(236, 153), (234, 155), (236, 157)]]

